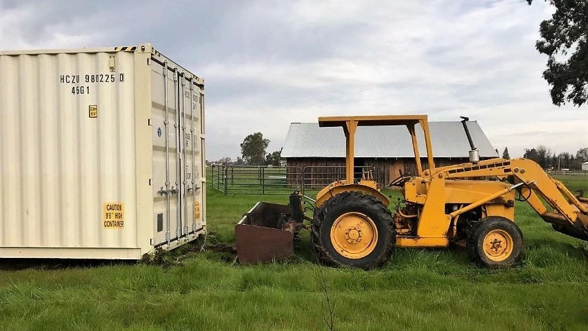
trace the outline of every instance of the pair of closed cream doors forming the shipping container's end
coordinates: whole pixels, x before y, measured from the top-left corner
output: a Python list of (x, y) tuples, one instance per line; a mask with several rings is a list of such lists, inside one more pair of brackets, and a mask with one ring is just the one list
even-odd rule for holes
[(203, 90), (191, 77), (152, 62), (155, 247), (203, 230)]

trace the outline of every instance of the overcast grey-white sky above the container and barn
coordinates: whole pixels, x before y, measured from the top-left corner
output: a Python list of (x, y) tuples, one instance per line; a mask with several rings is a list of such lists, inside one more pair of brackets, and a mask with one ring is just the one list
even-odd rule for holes
[[(6, 1), (0, 49), (152, 43), (205, 79), (206, 157), (252, 132), (279, 150), (323, 115), (468, 116), (512, 157), (588, 146), (587, 109), (551, 105), (544, 1)], [(467, 151), (464, 151), (467, 155)]]

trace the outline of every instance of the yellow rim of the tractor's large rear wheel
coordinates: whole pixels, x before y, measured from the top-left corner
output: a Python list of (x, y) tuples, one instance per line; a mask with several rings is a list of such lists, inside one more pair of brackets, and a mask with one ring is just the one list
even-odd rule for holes
[(378, 243), (376, 223), (361, 212), (347, 212), (331, 227), (331, 243), (337, 252), (349, 259), (361, 259)]

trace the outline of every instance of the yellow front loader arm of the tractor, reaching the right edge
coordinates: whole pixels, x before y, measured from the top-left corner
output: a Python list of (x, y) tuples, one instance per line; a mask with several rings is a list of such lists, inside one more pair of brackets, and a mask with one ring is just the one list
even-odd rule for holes
[[(426, 172), (425, 172), (426, 175)], [(432, 178), (461, 179), (496, 176), (522, 183), (520, 195), (555, 230), (588, 241), (588, 199), (575, 197), (562, 182), (551, 178), (529, 159), (490, 159), (434, 169)], [(542, 199), (547, 203), (543, 203)]]

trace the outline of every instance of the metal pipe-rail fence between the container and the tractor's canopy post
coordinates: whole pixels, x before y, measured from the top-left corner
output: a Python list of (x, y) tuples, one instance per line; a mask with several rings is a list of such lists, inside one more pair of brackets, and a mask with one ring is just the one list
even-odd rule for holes
[[(374, 167), (354, 167), (354, 179), (368, 173), (380, 180)], [(345, 179), (344, 165), (309, 165), (306, 167), (270, 165), (212, 165), (212, 188), (223, 194), (287, 195), (294, 190), (303, 194), (318, 192), (334, 181)]]

